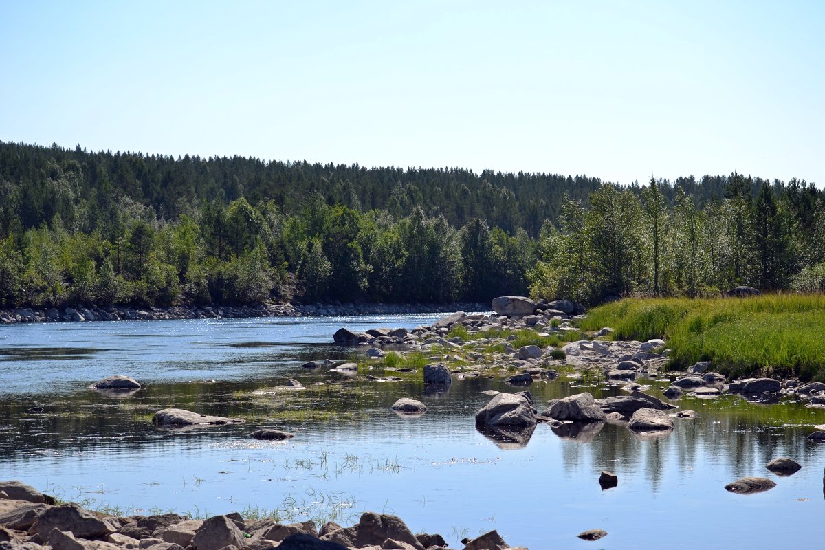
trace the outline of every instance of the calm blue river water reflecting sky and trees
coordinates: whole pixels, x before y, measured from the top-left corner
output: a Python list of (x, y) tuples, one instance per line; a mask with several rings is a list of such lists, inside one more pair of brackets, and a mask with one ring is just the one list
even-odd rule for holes
[[(543, 548), (818, 548), (825, 536), (825, 444), (807, 439), (825, 411), (785, 399), (683, 397), (700, 413), (670, 435), (643, 439), (621, 425), (564, 433), (538, 425), (521, 443), (474, 426), (497, 379), (454, 378), (446, 393), (422, 383), (346, 378), (302, 369), (308, 360), (348, 360), (339, 327), (416, 327), (441, 317), (257, 318), (30, 324), (0, 327), (0, 477), (64, 500), (121, 514), (177, 511), (246, 515), (277, 510), (284, 521), (335, 519), (365, 510), (399, 515), (413, 532), (451, 546), (497, 529), (512, 545)], [(89, 385), (111, 374), (144, 384), (129, 396)], [(273, 390), (297, 378), (304, 392)], [(312, 385), (320, 384), (324, 385)], [(667, 381), (650, 381), (661, 396)], [(530, 387), (538, 408), (554, 397), (620, 393), (604, 382), (559, 378)], [(413, 397), (430, 410), (396, 416)], [(43, 407), (43, 411), (31, 411)], [(157, 430), (153, 411), (181, 407), (241, 416), (243, 425)], [(252, 430), (295, 433), (256, 441)], [(791, 477), (765, 468), (787, 456)], [(601, 491), (601, 470), (619, 486)], [(728, 493), (739, 477), (777, 487)], [(597, 543), (576, 535), (609, 534)]]

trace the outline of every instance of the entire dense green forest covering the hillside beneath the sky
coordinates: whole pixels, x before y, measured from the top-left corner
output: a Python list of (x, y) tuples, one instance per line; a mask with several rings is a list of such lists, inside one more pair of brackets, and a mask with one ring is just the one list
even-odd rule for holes
[(0, 305), (823, 289), (825, 194), (0, 142)]

